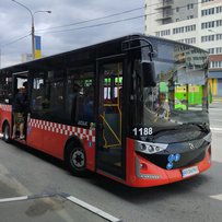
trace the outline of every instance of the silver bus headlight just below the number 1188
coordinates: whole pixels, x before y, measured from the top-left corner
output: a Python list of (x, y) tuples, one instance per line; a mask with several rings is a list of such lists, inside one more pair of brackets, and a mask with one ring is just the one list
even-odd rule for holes
[(135, 141), (135, 150), (141, 153), (153, 154), (166, 150), (168, 144)]

